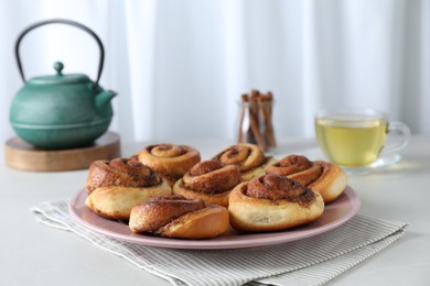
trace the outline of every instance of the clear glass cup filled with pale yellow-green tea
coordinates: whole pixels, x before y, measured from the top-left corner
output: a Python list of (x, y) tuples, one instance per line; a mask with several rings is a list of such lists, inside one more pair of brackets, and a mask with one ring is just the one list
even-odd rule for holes
[[(389, 121), (387, 113), (375, 109), (322, 110), (315, 116), (315, 132), (329, 161), (350, 170), (397, 163), (396, 152), (410, 139), (405, 123)], [(389, 154), (397, 160), (384, 162), (381, 156)]]

